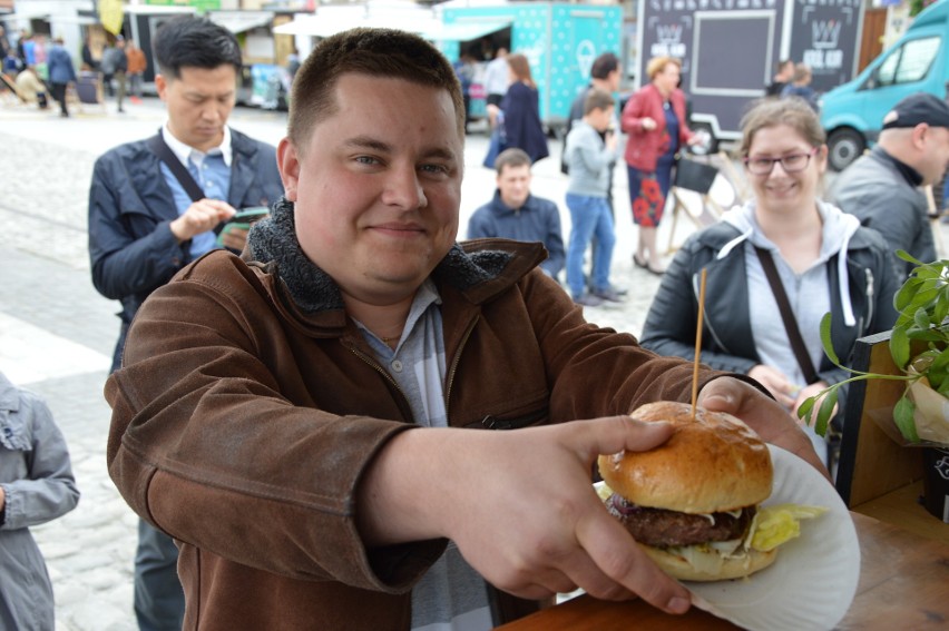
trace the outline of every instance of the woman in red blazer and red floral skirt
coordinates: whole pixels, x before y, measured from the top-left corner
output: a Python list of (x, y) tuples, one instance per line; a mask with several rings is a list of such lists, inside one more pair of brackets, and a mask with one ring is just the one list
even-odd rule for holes
[(664, 269), (656, 249), (656, 227), (663, 218), (676, 154), (698, 139), (686, 125), (685, 95), (677, 87), (682, 62), (674, 57), (654, 57), (646, 72), (650, 82), (623, 108), (620, 126), (629, 135), (625, 156), (629, 199), (633, 220), (639, 226), (633, 263), (659, 275)]

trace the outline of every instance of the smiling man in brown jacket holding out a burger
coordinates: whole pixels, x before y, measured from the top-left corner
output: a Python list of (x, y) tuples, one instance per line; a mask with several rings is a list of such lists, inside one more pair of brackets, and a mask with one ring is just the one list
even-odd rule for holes
[[(692, 366), (586, 323), (540, 245), (456, 244), (463, 100), (424, 40), (334, 36), (293, 102), (286, 199), (151, 294), (106, 386), (109, 471), (180, 545), (185, 628), (489, 629), (578, 586), (684, 612), (590, 470), (668, 438), (625, 414), (688, 401)], [(699, 386), (821, 466), (753, 385)]]

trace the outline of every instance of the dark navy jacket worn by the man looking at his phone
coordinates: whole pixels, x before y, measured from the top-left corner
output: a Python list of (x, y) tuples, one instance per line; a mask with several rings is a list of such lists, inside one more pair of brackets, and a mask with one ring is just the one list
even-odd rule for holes
[[(280, 199), (276, 150), (233, 129), (231, 146), (227, 203), (241, 209)], [(126, 326), (148, 294), (190, 263), (190, 241), (179, 244), (168, 227), (177, 218), (172, 189), (148, 140), (121, 145), (96, 160), (89, 189), (92, 284), (102, 296), (121, 302), (119, 317)], [(123, 333), (119, 352), (124, 338)]]

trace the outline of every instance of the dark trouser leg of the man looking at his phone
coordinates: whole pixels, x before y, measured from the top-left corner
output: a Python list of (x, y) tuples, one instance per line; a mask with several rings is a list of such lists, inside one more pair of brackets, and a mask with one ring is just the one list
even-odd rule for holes
[(135, 553), (135, 617), (139, 631), (178, 631), (185, 619), (178, 549), (144, 520), (138, 520)]

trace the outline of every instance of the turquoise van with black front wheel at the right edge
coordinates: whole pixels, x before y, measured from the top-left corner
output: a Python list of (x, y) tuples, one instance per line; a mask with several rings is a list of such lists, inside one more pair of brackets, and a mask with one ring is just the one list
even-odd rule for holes
[(903, 97), (920, 91), (947, 96), (947, 39), (949, 0), (939, 0), (855, 79), (823, 96), (821, 124), (832, 169), (841, 170), (863, 154), (877, 139), (883, 116)]

